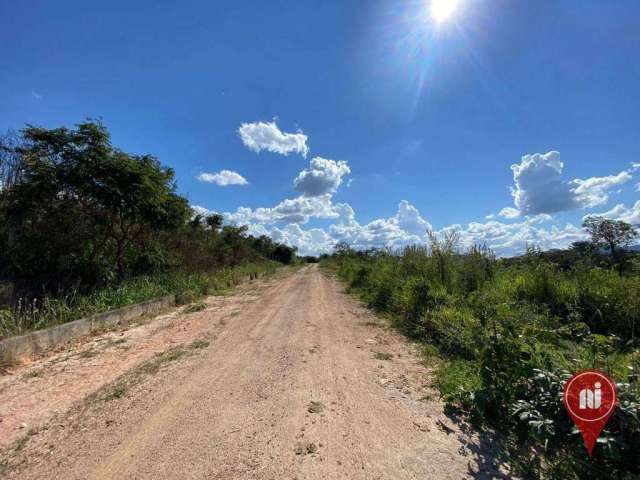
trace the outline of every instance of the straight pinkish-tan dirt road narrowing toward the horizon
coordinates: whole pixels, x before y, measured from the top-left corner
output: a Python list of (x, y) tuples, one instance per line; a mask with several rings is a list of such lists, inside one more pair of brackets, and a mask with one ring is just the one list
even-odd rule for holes
[(317, 266), (263, 284), (222, 319), (199, 315), (218, 315), (200, 332), (208, 346), (76, 402), (5, 449), (0, 475), (502, 476), (485, 442), (443, 414), (413, 347)]

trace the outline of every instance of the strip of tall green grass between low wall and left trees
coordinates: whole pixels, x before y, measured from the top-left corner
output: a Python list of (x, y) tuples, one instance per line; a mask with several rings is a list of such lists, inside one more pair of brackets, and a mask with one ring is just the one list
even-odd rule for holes
[(141, 276), (86, 295), (18, 299), (13, 308), (0, 309), (0, 339), (66, 323), (87, 315), (175, 294), (179, 304), (221, 293), (246, 277), (275, 271), (278, 262), (263, 261), (225, 267), (210, 273), (170, 272)]

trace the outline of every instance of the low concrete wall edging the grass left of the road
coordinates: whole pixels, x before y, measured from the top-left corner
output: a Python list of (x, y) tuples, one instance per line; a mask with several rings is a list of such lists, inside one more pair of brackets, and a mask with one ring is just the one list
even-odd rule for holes
[(46, 352), (96, 330), (116, 325), (126, 325), (135, 318), (158, 312), (175, 304), (175, 295), (168, 295), (27, 333), (19, 337), (7, 338), (0, 341), (0, 363), (15, 363), (22, 358)]

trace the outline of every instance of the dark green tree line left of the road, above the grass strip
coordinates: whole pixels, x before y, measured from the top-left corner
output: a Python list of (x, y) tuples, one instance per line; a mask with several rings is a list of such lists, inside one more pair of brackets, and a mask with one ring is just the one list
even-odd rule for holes
[(99, 121), (0, 138), (0, 282), (21, 294), (295, 258), (221, 215), (195, 214), (171, 168), (116, 148)]

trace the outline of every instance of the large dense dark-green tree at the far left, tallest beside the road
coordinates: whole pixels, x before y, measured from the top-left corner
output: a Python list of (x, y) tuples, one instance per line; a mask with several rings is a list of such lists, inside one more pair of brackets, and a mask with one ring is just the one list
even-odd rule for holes
[(21, 178), (0, 196), (6, 255), (18, 279), (64, 286), (122, 278), (145, 255), (161, 259), (148, 255), (161, 248), (158, 233), (189, 218), (173, 170), (114, 148), (99, 122), (27, 126), (22, 139), (13, 150)]

